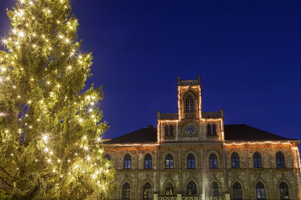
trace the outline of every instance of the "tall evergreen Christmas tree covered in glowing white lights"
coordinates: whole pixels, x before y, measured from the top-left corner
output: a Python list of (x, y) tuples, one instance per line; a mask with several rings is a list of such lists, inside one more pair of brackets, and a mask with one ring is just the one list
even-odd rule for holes
[[(107, 129), (68, 0), (18, 1), (0, 51), (0, 199), (107, 199)], [(84, 90), (84, 91), (83, 91)]]

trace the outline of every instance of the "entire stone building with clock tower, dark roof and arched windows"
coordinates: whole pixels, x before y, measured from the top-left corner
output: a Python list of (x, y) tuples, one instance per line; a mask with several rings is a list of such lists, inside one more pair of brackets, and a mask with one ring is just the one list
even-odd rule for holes
[(113, 199), (301, 199), (298, 144), (202, 112), (201, 78), (178, 77), (178, 113), (103, 142), (116, 169)]

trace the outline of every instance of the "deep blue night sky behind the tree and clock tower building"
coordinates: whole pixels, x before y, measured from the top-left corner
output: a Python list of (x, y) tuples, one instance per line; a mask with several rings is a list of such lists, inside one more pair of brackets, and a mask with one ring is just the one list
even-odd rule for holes
[[(0, 37), (10, 22), (0, 0)], [(87, 87), (103, 85), (113, 138), (176, 113), (177, 77), (201, 76), (202, 111), (301, 140), (301, 1), (71, 1)], [(3, 45), (1, 46), (3, 50)]]

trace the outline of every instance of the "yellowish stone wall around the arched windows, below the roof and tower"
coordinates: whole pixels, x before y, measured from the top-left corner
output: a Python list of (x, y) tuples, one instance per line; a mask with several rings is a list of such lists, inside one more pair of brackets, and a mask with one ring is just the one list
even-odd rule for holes
[[(157, 149), (157, 150), (156, 150)], [(227, 149), (227, 150), (226, 150)], [(261, 181), (265, 188), (266, 199), (280, 199), (279, 184), (283, 181), (288, 185), (289, 199), (298, 199), (300, 195), (300, 172), (294, 166), (294, 149), (288, 144), (226, 144), (215, 143), (162, 143), (156, 146), (105, 146), (116, 169), (117, 191), (114, 199), (121, 199), (122, 185), (130, 184), (130, 199), (142, 199), (143, 186), (146, 182), (152, 185), (152, 192), (159, 196), (165, 195), (168, 182), (174, 185), (174, 195), (187, 195), (187, 184), (194, 181), (197, 185), (197, 196), (205, 194), (211, 196), (210, 186), (216, 182), (219, 186), (219, 195), (225, 196), (229, 192), (233, 199), (233, 184), (239, 182), (242, 187), (243, 199), (256, 199), (256, 184)], [(226, 169), (226, 151), (228, 167), (228, 183)], [(282, 152), (285, 157), (285, 168), (276, 167), (276, 153)], [(240, 168), (231, 168), (231, 155), (239, 155)], [(259, 152), (262, 158), (262, 168), (253, 167), (253, 154)], [(144, 169), (144, 156), (152, 156), (152, 169)], [(174, 157), (174, 168), (165, 168), (167, 154)], [(195, 156), (195, 169), (187, 169), (187, 156)], [(209, 155), (215, 153), (218, 168), (209, 168)], [(123, 159), (126, 154), (131, 156), (131, 169), (123, 169)], [(158, 157), (156, 156), (158, 155)], [(158, 162), (158, 165), (157, 165)], [(156, 175), (157, 174), (157, 175)]]

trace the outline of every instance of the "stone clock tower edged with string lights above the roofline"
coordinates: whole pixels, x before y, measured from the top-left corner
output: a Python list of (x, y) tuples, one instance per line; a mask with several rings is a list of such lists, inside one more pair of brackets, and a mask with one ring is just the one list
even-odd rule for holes
[(201, 77), (181, 80), (178, 77), (178, 113), (157, 113), (158, 141), (223, 141), (223, 110), (202, 112)]

